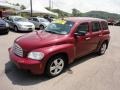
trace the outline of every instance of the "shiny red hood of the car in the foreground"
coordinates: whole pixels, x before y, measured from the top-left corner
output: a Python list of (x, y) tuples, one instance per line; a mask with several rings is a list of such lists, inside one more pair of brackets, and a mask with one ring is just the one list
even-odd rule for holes
[(27, 35), (21, 36), (15, 40), (25, 51), (29, 52), (34, 49), (49, 47), (66, 43), (68, 35), (52, 34), (45, 31), (35, 31)]

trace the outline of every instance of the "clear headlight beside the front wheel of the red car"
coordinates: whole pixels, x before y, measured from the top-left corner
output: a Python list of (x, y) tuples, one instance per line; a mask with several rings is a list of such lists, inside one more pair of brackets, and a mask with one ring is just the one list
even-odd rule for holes
[(42, 60), (44, 58), (44, 53), (42, 53), (42, 52), (30, 52), (28, 54), (28, 58), (34, 59), (34, 60)]

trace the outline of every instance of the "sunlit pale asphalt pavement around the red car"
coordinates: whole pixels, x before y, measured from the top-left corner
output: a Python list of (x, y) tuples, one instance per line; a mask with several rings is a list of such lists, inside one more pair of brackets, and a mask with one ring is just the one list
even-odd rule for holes
[(109, 28), (111, 40), (105, 55), (80, 58), (52, 79), (19, 70), (10, 62), (8, 48), (26, 33), (1, 35), (0, 90), (120, 90), (120, 27)]

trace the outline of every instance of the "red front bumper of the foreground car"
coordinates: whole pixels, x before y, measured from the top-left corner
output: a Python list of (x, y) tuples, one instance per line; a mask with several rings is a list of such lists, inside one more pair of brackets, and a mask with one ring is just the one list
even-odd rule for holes
[(10, 60), (19, 68), (32, 72), (33, 74), (43, 74), (44, 67), (41, 61), (22, 58), (15, 55), (12, 49), (9, 49)]

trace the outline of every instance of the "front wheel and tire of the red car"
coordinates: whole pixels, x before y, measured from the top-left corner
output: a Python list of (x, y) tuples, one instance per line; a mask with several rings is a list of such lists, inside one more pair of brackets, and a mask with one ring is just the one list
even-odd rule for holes
[(45, 74), (48, 77), (56, 77), (62, 73), (65, 67), (65, 58), (61, 55), (52, 57), (46, 66)]

